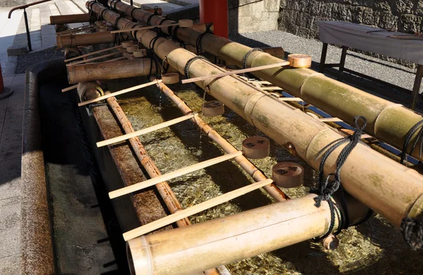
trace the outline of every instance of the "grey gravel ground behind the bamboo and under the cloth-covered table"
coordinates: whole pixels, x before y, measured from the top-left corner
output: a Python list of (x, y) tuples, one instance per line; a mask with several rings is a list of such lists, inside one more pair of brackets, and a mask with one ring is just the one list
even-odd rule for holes
[[(249, 47), (283, 47), (286, 51), (286, 55), (309, 54), (312, 56), (312, 69), (316, 71), (320, 63), (322, 44), (320, 41), (315, 39), (298, 37), (288, 32), (281, 32), (278, 30), (266, 32), (246, 32), (243, 34), (232, 35), (230, 38), (235, 42), (240, 42)], [(341, 48), (329, 45), (326, 63), (339, 63), (340, 59)], [(383, 61), (381, 59), (376, 59), (372, 56), (359, 54), (353, 51), (348, 51), (345, 60), (345, 68), (350, 68), (353, 71), (364, 73), (365, 75), (372, 76), (373, 78), (377, 78), (379, 80), (384, 80), (407, 90), (412, 90), (415, 80), (415, 69), (400, 66), (396, 63)], [(367, 84), (384, 90), (389, 90), (402, 97), (404, 100), (398, 103), (405, 104), (405, 106), (407, 106), (407, 102), (410, 100), (410, 96), (400, 90), (393, 90), (391, 87), (365, 80), (364, 78), (355, 77), (355, 79), (358, 80), (359, 83), (353, 85), (348, 82), (348, 84), (359, 87), (361, 90), (376, 94), (377, 96), (383, 97), (392, 102), (398, 102), (398, 100), (387, 97), (387, 93), (379, 94), (378, 92), (374, 92), (371, 88), (364, 88), (363, 85)], [(420, 92), (422, 92), (422, 88), (420, 88)], [(419, 102), (418, 109), (423, 109), (422, 102)]]

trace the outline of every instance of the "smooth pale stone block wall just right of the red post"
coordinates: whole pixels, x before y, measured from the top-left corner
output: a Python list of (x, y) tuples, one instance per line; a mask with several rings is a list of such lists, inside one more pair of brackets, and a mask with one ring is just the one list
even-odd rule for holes
[(277, 30), (280, 3), (281, 0), (228, 0), (229, 32)]

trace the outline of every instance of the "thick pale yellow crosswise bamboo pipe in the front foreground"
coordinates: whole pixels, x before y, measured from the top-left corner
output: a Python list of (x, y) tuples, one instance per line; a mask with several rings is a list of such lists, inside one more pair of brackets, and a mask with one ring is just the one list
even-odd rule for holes
[(129, 240), (131, 274), (197, 274), (322, 236), (331, 214), (327, 202), (314, 207), (315, 196)]

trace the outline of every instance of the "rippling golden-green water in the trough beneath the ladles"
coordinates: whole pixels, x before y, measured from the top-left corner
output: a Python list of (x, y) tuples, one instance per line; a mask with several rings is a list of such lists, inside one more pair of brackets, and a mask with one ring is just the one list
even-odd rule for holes
[[(109, 82), (112, 91), (146, 82), (143, 78), (114, 80)], [(195, 85), (171, 85), (178, 97), (193, 111), (201, 111), (204, 91)], [(213, 100), (207, 96), (207, 100)], [(118, 97), (123, 111), (135, 130), (156, 125), (182, 116), (179, 109), (157, 87)], [(223, 138), (240, 149), (245, 138), (264, 135), (243, 118), (226, 108), (223, 116), (206, 117)], [(154, 159), (162, 173), (196, 164), (224, 154), (190, 121), (140, 136), (142, 144)], [(317, 185), (317, 172), (304, 161), (294, 157), (286, 149), (271, 141), (271, 155), (252, 162), (271, 176), (271, 167), (279, 161), (293, 161), (305, 168), (304, 186), (283, 190), (292, 198), (302, 197)], [(169, 181), (176, 197), (185, 207), (212, 199), (222, 193), (235, 190), (252, 182), (238, 164), (225, 161), (221, 164)], [(264, 190), (256, 190), (231, 200), (189, 219), (192, 224), (217, 219), (273, 202)], [(277, 234), (278, 232), (275, 232)], [(405, 245), (398, 228), (376, 216), (365, 224), (344, 230), (337, 250), (327, 251), (319, 243), (305, 241), (257, 257), (227, 264), (232, 274), (418, 274), (423, 270), (422, 252), (410, 250)]]

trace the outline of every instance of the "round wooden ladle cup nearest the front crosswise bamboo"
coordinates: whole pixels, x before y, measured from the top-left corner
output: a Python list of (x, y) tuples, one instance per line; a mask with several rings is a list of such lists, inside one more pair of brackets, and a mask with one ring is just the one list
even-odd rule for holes
[(281, 162), (273, 166), (271, 178), (282, 188), (295, 188), (302, 185), (304, 169), (293, 162)]

